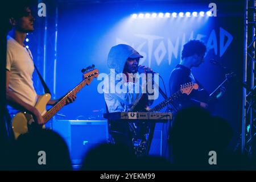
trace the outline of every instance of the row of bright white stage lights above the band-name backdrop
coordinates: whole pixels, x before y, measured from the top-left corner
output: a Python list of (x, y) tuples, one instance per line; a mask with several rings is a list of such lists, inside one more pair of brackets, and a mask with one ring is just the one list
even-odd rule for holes
[(176, 18), (177, 16), (179, 17), (197, 17), (197, 16), (212, 16), (212, 12), (207, 11), (200, 11), (199, 13), (194, 11), (193, 13), (191, 12), (187, 12), (187, 13), (140, 13), (140, 14), (133, 14), (131, 15), (132, 18), (171, 18), (174, 17)]

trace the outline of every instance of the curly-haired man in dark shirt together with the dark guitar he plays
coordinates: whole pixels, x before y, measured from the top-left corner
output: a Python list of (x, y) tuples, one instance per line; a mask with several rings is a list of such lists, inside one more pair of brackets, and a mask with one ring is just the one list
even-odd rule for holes
[(232, 73), (226, 75), (226, 80), (216, 89), (213, 93), (209, 94), (200, 84), (199, 81), (191, 73), (192, 67), (199, 67), (204, 62), (204, 56), (207, 48), (200, 40), (190, 40), (187, 42), (183, 51), (181, 52), (181, 62), (176, 65), (176, 68), (171, 72), (169, 80), (170, 95), (180, 90), (180, 85), (187, 84), (189, 82), (197, 83), (199, 89), (192, 90), (191, 94), (183, 94), (180, 99), (174, 101), (176, 111), (185, 107), (203, 107), (208, 111), (213, 111), (213, 106), (216, 101), (221, 98), (226, 92), (226, 88), (223, 86), (228, 78), (233, 77)]

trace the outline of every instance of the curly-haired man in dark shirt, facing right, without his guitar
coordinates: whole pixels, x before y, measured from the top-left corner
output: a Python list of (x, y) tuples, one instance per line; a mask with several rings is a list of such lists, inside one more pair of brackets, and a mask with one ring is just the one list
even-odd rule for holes
[[(207, 48), (205, 47), (204, 43), (200, 42), (200, 40), (190, 40), (184, 45), (181, 53), (181, 62), (180, 64), (176, 65), (176, 68), (171, 72), (169, 80), (170, 95), (177, 92), (180, 89), (181, 84), (185, 84), (187, 82), (196, 82), (199, 84), (191, 73), (191, 68), (199, 67), (199, 65), (204, 62), (206, 49)], [(201, 87), (200, 84), (199, 86)], [(198, 94), (198, 90), (193, 90), (189, 96), (183, 94), (184, 96), (174, 103), (176, 110), (189, 106), (200, 106), (207, 109), (208, 104), (206, 102), (201, 102), (193, 98)]]

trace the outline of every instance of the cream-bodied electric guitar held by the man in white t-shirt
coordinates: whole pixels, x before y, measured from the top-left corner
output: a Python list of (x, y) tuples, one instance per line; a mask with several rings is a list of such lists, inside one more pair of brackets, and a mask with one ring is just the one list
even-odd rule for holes
[[(88, 67), (86, 69), (82, 69), (82, 72), (84, 73), (82, 75), (82, 81), (80, 84), (78, 84), (73, 90), (68, 92), (57, 104), (51, 107), (48, 111), (46, 111), (46, 105), (48, 101), (51, 99), (51, 95), (49, 93), (43, 94), (38, 98), (38, 101), (36, 102), (35, 108), (39, 110), (41, 115), (43, 116), (44, 123), (43, 126), (39, 126), (37, 123), (35, 123), (34, 118), (31, 114), (28, 114), (26, 112), (20, 112), (17, 113), (12, 121), (12, 127), (14, 132), (14, 137), (17, 139), (20, 134), (27, 133), (31, 130), (31, 127), (44, 127), (44, 125), (59, 111), (65, 104), (67, 97), (71, 96), (72, 94), (78, 93), (85, 85), (89, 85), (93, 78), (98, 77), (98, 69), (94, 69), (94, 65), (91, 67)], [(36, 125), (36, 126), (35, 126)]]

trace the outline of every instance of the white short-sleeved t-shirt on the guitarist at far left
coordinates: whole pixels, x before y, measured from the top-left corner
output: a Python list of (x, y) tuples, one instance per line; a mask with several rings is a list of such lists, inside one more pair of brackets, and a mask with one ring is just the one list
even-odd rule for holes
[[(29, 52), (29, 53), (28, 53)], [(7, 36), (6, 69), (10, 71), (9, 90), (23, 102), (34, 106), (36, 92), (32, 81), (34, 63), (30, 50), (21, 46), (11, 36)]]

